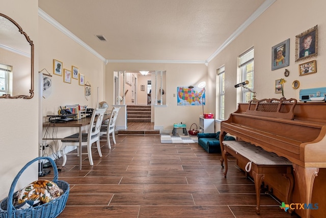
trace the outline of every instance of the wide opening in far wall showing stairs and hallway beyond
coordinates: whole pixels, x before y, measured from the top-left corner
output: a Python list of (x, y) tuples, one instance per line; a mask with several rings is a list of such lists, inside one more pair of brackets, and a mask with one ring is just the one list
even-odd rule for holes
[(122, 110), (122, 113), (125, 113), (122, 115), (122, 119), (125, 119), (124, 130), (154, 130), (153, 106), (166, 101), (166, 71), (146, 72), (147, 74), (140, 71), (114, 72), (115, 103), (116, 106), (125, 107), (125, 110)]

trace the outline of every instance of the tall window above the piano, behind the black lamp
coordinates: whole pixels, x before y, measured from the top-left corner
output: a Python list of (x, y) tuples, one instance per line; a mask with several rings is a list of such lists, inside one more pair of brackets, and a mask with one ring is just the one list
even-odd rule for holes
[[(240, 56), (240, 80), (249, 81), (247, 87), (254, 91), (254, 48)], [(241, 82), (240, 81), (240, 82)], [(249, 102), (253, 99), (253, 93), (248, 89), (242, 89), (242, 102)]]

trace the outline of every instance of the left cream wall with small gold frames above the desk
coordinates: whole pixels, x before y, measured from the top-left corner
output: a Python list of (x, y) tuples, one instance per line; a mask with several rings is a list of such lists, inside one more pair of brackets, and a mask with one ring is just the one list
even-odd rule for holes
[[(77, 44), (74, 40), (59, 31), (43, 18), (39, 17), (39, 37), (40, 37), (40, 57), (39, 68), (45, 68), (52, 75), (52, 94), (47, 98), (42, 98), (42, 121), (48, 120), (47, 115), (57, 115), (60, 106), (64, 108), (67, 104), (87, 105), (89, 108), (98, 107), (98, 102), (104, 100), (105, 74), (104, 63), (93, 55), (90, 51)], [(72, 66), (78, 68), (80, 74), (85, 75), (85, 84), (91, 85), (91, 97), (86, 99), (85, 87), (80, 86), (78, 79), (71, 79), (71, 84), (64, 83), (63, 76), (53, 74), (53, 59), (63, 62), (63, 68), (71, 70)], [(46, 71), (43, 71), (46, 73)], [(85, 127), (84, 131), (87, 129)], [(50, 133), (47, 138), (50, 138)], [(42, 135), (46, 129), (43, 129)], [(55, 131), (57, 131), (55, 129)], [(77, 128), (59, 128), (57, 137), (65, 137), (78, 132)], [(58, 150), (62, 143), (43, 141)], [(51, 155), (48, 148), (46, 154)]]

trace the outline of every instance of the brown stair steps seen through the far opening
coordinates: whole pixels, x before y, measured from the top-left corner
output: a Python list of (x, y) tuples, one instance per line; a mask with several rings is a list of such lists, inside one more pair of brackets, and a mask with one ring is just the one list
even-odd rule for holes
[(151, 122), (151, 105), (127, 105), (127, 122)]

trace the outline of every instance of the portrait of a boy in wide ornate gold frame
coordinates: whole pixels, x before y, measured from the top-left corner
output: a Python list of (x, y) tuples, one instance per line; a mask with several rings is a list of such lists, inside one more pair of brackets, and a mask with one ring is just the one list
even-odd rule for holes
[(317, 56), (317, 25), (295, 36), (295, 62)]

